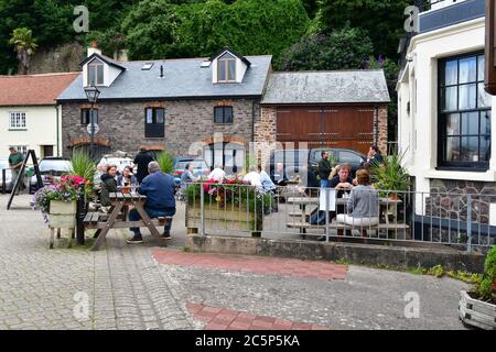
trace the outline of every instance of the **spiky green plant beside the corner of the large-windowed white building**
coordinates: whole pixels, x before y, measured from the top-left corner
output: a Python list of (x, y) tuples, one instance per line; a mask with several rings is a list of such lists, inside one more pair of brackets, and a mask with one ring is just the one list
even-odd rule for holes
[(391, 199), (398, 197), (398, 191), (410, 188), (410, 175), (401, 165), (402, 155), (393, 153), (385, 157), (382, 164), (371, 165), (371, 178), (377, 189), (384, 190)]

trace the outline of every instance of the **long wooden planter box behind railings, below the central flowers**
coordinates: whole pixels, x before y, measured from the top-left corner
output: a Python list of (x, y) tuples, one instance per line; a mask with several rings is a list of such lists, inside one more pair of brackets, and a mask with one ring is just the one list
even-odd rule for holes
[[(247, 211), (241, 206), (222, 208), (218, 204), (205, 204), (205, 229), (206, 230), (238, 230), (249, 231), (252, 237), (260, 237), (262, 231), (262, 215)], [(258, 211), (257, 211), (258, 212)], [(198, 202), (186, 206), (186, 228), (188, 233), (196, 233), (201, 228), (202, 212)]]

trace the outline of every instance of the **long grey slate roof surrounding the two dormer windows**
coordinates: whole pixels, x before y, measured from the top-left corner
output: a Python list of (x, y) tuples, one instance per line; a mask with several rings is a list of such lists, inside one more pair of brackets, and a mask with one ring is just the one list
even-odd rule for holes
[[(213, 84), (212, 65), (201, 67), (207, 58), (181, 58), (147, 62), (119, 62), (126, 68), (110, 87), (98, 87), (101, 100), (123, 99), (195, 99), (220, 97), (261, 97), (272, 56), (247, 56), (251, 66), (240, 84)], [(150, 70), (142, 70), (153, 63)], [(163, 78), (160, 66), (163, 65)], [(58, 101), (86, 101), (80, 75), (57, 99)]]

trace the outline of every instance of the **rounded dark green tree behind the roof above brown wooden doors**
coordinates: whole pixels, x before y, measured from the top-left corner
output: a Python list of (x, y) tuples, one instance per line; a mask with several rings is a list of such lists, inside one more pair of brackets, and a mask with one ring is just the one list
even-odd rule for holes
[(345, 26), (330, 34), (303, 37), (288, 48), (279, 66), (282, 70), (331, 70), (364, 68), (374, 54), (370, 38), (359, 29)]

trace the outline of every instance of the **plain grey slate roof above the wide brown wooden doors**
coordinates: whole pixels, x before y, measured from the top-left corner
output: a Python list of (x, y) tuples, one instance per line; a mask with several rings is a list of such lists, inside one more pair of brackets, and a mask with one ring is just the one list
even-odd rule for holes
[(381, 69), (273, 73), (263, 105), (390, 101)]

